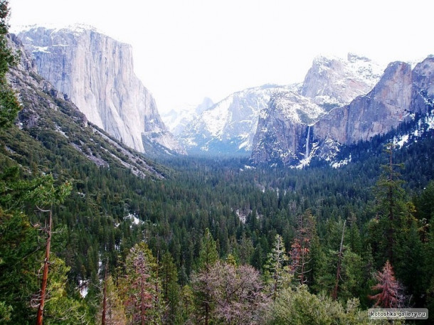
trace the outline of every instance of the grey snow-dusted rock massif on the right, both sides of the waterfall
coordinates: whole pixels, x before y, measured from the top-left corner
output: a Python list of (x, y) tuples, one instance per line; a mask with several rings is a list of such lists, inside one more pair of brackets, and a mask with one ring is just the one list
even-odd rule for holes
[[(369, 82), (361, 87), (363, 82), (344, 78), (356, 91), (343, 93), (342, 83), (337, 82), (342, 74), (336, 73), (343, 71), (342, 64), (328, 62), (328, 67), (334, 67), (329, 73), (318, 73), (327, 69), (315, 68), (314, 63), (305, 78), (300, 93), (308, 96), (310, 102), (290, 100), (296, 95), (285, 92), (272, 97), (258, 122), (251, 156), (254, 163), (297, 165), (305, 164), (312, 156), (330, 160), (341, 144), (369, 141), (413, 119), (415, 114), (428, 113), (434, 98), (433, 56), (413, 70), (408, 63), (390, 63), (373, 88)], [(337, 105), (345, 100), (349, 102)]]

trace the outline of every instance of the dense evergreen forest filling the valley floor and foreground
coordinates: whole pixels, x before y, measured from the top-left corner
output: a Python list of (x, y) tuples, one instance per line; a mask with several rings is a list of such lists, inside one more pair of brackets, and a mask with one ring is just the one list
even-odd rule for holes
[(173, 156), (137, 176), (14, 122), (26, 107), (1, 32), (0, 324), (381, 324), (367, 309), (434, 310), (432, 133), (346, 148), (338, 169)]

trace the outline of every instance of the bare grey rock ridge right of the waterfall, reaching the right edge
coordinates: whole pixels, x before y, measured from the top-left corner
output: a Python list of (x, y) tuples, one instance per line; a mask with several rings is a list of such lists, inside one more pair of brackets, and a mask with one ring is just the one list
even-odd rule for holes
[(340, 144), (369, 141), (413, 118), (414, 113), (425, 114), (425, 99), (434, 94), (433, 78), (434, 58), (425, 59), (413, 71), (408, 63), (391, 63), (371, 92), (320, 119), (314, 125), (316, 137)]

